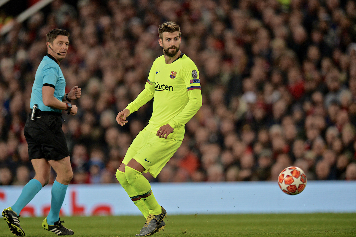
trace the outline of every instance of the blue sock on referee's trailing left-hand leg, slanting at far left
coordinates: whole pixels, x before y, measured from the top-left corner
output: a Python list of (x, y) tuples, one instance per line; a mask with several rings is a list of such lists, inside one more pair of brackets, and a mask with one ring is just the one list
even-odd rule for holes
[(25, 187), (23, 187), (21, 194), (14, 205), (11, 206), (12, 211), (20, 215), (23, 207), (30, 202), (34, 196), (42, 189), (42, 184), (37, 179), (31, 179)]

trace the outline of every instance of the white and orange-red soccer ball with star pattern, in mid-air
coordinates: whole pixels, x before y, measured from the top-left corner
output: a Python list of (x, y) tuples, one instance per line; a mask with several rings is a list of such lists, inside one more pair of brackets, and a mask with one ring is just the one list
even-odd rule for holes
[(278, 185), (284, 193), (295, 195), (302, 193), (307, 185), (307, 177), (299, 167), (290, 166), (278, 175)]

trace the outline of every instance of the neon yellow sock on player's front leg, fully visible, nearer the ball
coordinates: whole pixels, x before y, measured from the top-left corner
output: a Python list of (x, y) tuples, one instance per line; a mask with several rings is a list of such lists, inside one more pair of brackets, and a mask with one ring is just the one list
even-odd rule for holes
[(142, 173), (126, 165), (125, 176), (127, 182), (131, 184), (138, 196), (141, 197), (141, 200), (147, 206), (148, 212), (151, 215), (161, 214), (161, 206), (158, 204), (152, 193), (150, 182), (142, 176)]

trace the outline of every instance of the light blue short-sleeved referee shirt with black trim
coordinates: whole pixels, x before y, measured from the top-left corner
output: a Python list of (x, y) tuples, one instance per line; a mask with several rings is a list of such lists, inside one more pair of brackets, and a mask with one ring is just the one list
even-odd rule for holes
[(43, 104), (42, 100), (42, 86), (52, 86), (54, 88), (54, 97), (62, 101), (66, 91), (66, 80), (64, 79), (61, 68), (59, 67), (56, 59), (51, 55), (43, 57), (40, 65), (37, 68), (35, 82), (32, 86), (30, 107), (33, 108), (34, 104), (38, 105), (41, 111), (53, 111), (61, 113), (62, 110), (52, 109), (51, 107)]

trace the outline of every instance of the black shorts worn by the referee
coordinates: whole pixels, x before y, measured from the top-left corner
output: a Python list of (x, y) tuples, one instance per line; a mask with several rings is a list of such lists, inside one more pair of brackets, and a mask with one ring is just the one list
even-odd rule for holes
[(66, 138), (62, 130), (62, 115), (56, 112), (40, 112), (36, 121), (27, 117), (24, 133), (29, 159), (46, 158), (60, 160), (69, 156)]

